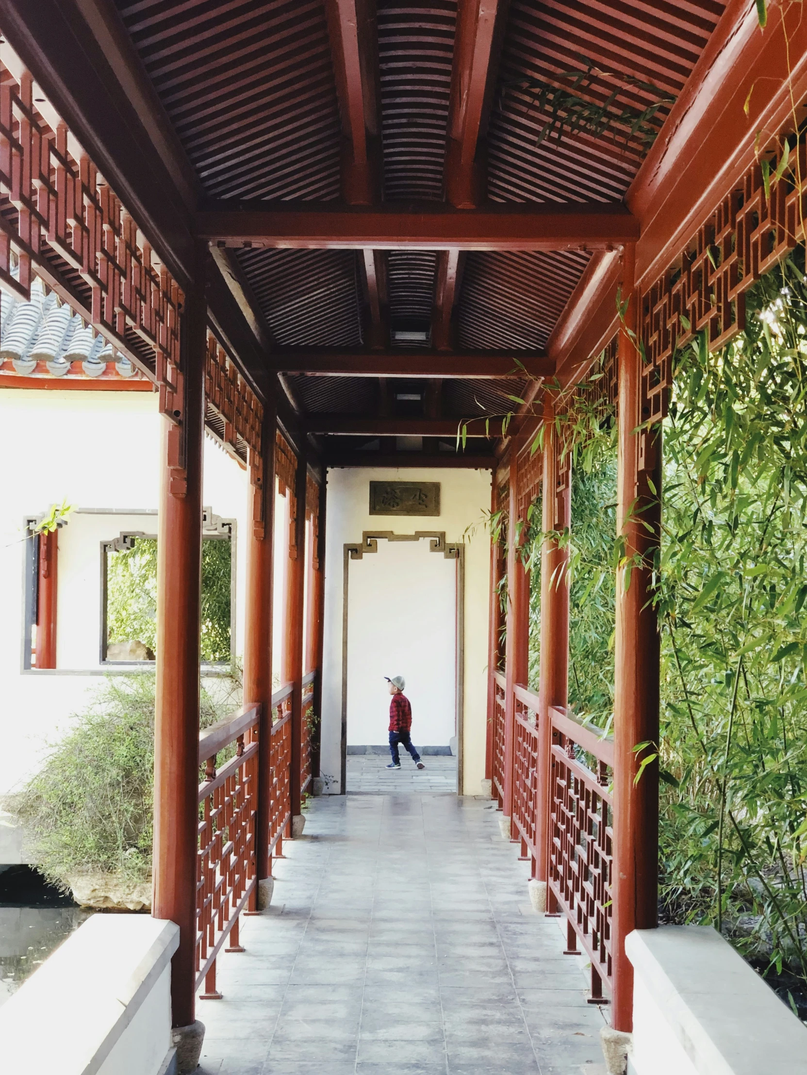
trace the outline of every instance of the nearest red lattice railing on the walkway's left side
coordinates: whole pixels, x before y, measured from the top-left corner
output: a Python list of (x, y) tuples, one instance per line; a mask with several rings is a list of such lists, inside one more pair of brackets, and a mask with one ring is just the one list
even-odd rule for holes
[[(258, 778), (258, 716), (245, 707), (199, 736), (199, 850), (196, 875), (196, 988), (217, 999), (216, 956), (243, 951), (241, 912), (255, 909), (255, 814)], [(216, 771), (217, 755), (236, 744), (236, 754)]]

